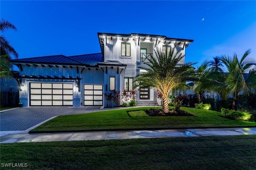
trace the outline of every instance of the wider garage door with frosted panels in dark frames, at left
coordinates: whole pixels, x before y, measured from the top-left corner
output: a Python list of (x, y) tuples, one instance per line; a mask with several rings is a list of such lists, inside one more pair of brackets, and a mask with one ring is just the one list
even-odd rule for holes
[(30, 106), (73, 106), (73, 84), (30, 83)]

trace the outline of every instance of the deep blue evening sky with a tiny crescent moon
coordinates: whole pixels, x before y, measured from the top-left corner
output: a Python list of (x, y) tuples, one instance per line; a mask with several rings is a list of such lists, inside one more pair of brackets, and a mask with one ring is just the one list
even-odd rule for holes
[[(218, 55), (256, 58), (256, 1), (3, 1), (3, 34), (19, 58), (100, 53), (97, 32), (194, 39), (185, 61)], [(2, 34), (2, 33), (1, 33)]]

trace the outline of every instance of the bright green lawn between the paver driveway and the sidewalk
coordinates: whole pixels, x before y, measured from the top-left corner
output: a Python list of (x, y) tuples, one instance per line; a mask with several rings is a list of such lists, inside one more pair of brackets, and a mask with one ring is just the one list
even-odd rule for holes
[(182, 107), (182, 110), (195, 115), (195, 117), (129, 117), (127, 114), (127, 111), (148, 108), (150, 107), (98, 111), (78, 115), (62, 115), (42, 124), (30, 132), (256, 126), (256, 122), (229, 120), (218, 116), (220, 112), (193, 109), (190, 107)]

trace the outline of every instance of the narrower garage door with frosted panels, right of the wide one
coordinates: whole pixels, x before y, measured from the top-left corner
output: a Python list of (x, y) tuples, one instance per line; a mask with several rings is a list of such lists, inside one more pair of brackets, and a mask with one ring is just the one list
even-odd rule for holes
[(84, 84), (84, 106), (103, 105), (103, 85)]

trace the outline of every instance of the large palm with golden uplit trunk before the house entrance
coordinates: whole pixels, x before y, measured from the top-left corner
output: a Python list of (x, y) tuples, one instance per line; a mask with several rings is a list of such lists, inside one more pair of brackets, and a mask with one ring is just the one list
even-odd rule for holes
[(193, 64), (185, 63), (177, 65), (178, 62), (185, 56), (182, 53), (174, 52), (174, 48), (170, 52), (165, 53), (158, 48), (154, 50), (156, 53), (156, 59), (150, 56), (149, 63), (144, 63), (147, 66), (140, 66), (138, 68), (144, 69), (147, 72), (138, 74), (135, 81), (136, 86), (142, 88), (156, 88), (162, 93), (163, 98), (163, 113), (169, 112), (168, 107), (168, 95), (170, 90), (186, 84), (186, 81), (190, 81), (194, 74)]

